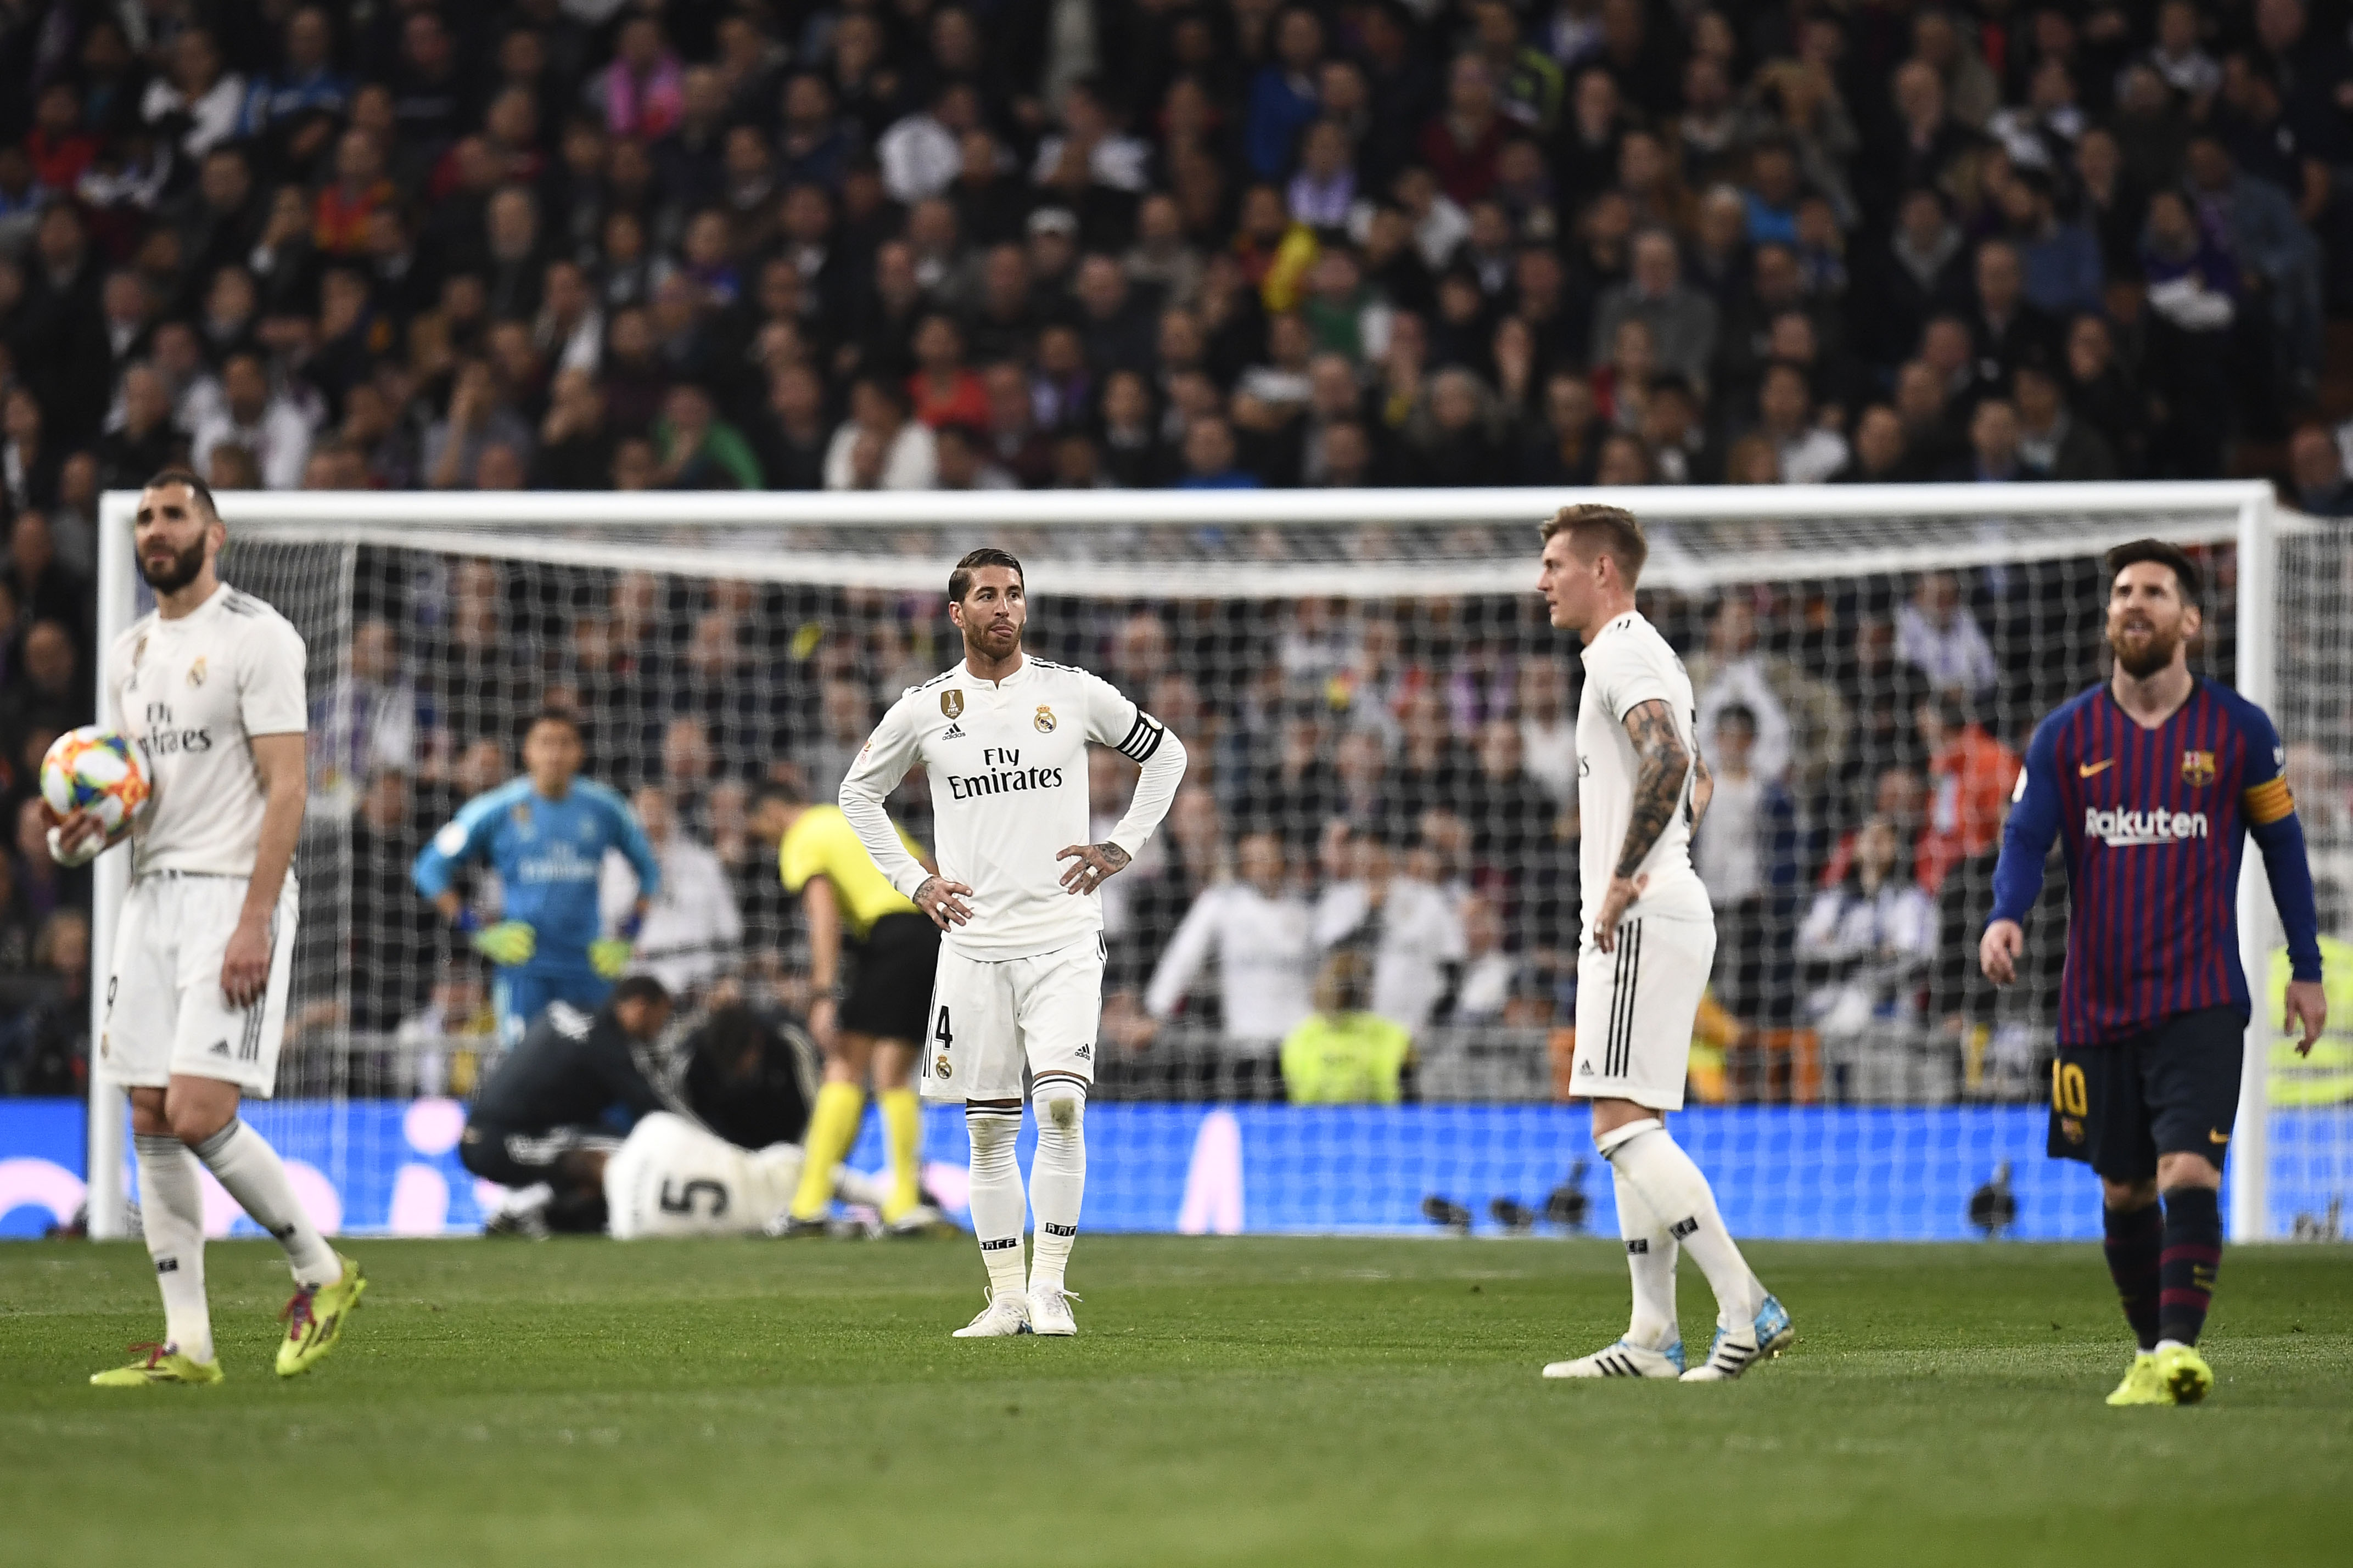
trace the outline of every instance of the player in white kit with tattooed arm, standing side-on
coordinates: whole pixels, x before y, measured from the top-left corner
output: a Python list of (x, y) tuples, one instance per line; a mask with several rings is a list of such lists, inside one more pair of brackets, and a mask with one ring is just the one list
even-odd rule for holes
[[(1692, 677), (1633, 604), (1649, 545), (1631, 512), (1567, 505), (1541, 534), (1537, 590), (1553, 625), (1586, 644), (1577, 705), (1584, 938), (1569, 1084), (1593, 1103), (1593, 1145), (1609, 1161), (1633, 1272), (1626, 1338), (1553, 1361), (1544, 1375), (1725, 1382), (1795, 1335), (1725, 1229), (1708, 1178), (1666, 1131), (1666, 1112), (1682, 1110), (1692, 1020), (1715, 959), (1715, 910), (1692, 870), (1692, 830), (1713, 790)], [(1692, 1251), (1715, 1291), (1715, 1345), (1689, 1371), (1675, 1321), (1678, 1248)]]

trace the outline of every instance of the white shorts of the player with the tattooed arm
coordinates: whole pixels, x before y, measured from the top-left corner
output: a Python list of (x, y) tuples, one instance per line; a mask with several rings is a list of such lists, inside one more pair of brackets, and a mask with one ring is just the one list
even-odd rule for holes
[(1692, 1023), (1715, 964), (1713, 919), (1638, 914), (1602, 952), (1577, 954), (1577, 1056), (1569, 1093), (1682, 1110)]

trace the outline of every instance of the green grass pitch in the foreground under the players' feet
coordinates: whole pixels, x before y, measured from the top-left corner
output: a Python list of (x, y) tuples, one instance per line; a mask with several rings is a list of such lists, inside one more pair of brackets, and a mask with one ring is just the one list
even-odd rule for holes
[[(1078, 1340), (948, 1340), (969, 1244), (214, 1244), (228, 1382), (89, 1389), (136, 1246), (0, 1248), (0, 1559), (358, 1563), (2329, 1561), (2353, 1248), (2238, 1248), (2191, 1410), (2108, 1410), (2097, 1248), (1755, 1246), (1800, 1342), (1729, 1387), (1541, 1382), (1624, 1326), (1609, 1241), (1087, 1237)], [(1706, 1347), (1685, 1269), (1685, 1335)]]

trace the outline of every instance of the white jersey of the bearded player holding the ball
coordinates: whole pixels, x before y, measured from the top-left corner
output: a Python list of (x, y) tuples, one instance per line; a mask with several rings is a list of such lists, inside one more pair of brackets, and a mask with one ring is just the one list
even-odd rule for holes
[(136, 875), (252, 875), (266, 804), (252, 741), (308, 731), (306, 661), (301, 632), (235, 588), (176, 621), (144, 616), (115, 639), (111, 717), (155, 790), (132, 830)]

